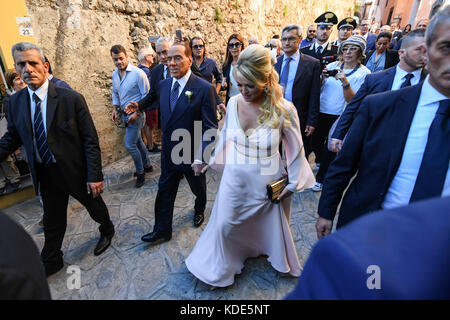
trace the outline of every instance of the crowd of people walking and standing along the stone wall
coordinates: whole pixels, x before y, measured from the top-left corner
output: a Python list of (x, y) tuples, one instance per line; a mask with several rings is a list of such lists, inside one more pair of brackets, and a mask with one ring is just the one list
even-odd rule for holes
[[(213, 287), (233, 284), (245, 260), (260, 255), (277, 271), (300, 275), (289, 228), (295, 192), (322, 191), (318, 238), (331, 233), (342, 199), (338, 229), (380, 209), (449, 196), (450, 7), (420, 23), (400, 35), (392, 26), (373, 34), (367, 20), (339, 21), (327, 11), (304, 40), (296, 24), (264, 46), (232, 34), (221, 68), (200, 36), (161, 37), (139, 51), (138, 66), (113, 45), (112, 120), (124, 124), (137, 188), (153, 170), (148, 152), (161, 152), (155, 225), (142, 241), (171, 240), (183, 177), (195, 195), (193, 225), (202, 225), (210, 168), (222, 172), (221, 182), (186, 266)], [(63, 268), (69, 195), (100, 224), (95, 255), (110, 246), (114, 225), (100, 195), (101, 152), (84, 97), (51, 75), (40, 47), (18, 43), (12, 56), (15, 93), (7, 104), (14, 112), (0, 160), (23, 146), (42, 197), (41, 259), (50, 276)], [(180, 132), (192, 143), (180, 148)], [(267, 188), (279, 179), (283, 189), (269, 199)]]

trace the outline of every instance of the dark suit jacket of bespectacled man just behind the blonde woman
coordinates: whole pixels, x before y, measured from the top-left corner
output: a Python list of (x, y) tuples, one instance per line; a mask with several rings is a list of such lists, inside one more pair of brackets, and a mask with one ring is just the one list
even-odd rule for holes
[[(278, 57), (275, 70), (281, 75), (284, 55)], [(297, 109), (302, 131), (306, 125), (316, 127), (320, 113), (320, 62), (300, 54), (297, 73), (292, 87), (292, 103)]]

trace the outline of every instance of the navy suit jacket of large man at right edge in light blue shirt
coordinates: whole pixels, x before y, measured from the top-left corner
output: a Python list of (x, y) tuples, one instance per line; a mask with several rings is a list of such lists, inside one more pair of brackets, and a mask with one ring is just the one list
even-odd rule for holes
[(365, 98), (342, 150), (328, 168), (319, 216), (332, 220), (344, 190), (337, 227), (381, 208), (398, 170), (423, 82)]

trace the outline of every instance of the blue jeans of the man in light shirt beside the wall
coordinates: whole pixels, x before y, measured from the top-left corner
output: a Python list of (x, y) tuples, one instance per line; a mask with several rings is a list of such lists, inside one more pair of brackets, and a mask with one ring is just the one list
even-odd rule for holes
[[(125, 122), (127, 118), (128, 117), (124, 119)], [(125, 129), (125, 148), (131, 154), (136, 167), (136, 172), (138, 173), (144, 172), (144, 167), (150, 165), (147, 148), (141, 137), (141, 130), (144, 127), (144, 124), (145, 114), (141, 114), (135, 122), (128, 123)]]

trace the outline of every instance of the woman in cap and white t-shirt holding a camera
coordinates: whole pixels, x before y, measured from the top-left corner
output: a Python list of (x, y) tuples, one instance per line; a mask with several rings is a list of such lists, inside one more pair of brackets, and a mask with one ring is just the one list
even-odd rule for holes
[(322, 182), (328, 166), (335, 157), (335, 153), (328, 151), (327, 148), (328, 132), (358, 91), (366, 75), (370, 73), (369, 69), (361, 64), (365, 58), (365, 50), (364, 37), (351, 36), (340, 44), (338, 61), (330, 63), (322, 73), (319, 124), (312, 139), (316, 164), (320, 163), (320, 167), (313, 191), (322, 190)]

